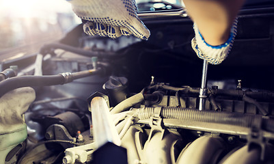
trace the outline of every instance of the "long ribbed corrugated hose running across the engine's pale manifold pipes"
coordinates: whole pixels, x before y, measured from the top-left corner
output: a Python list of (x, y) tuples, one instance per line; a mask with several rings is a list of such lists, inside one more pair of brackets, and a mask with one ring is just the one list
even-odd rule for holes
[[(148, 119), (154, 113), (154, 107), (139, 109), (137, 117), (140, 120)], [(244, 115), (241, 113), (228, 113), (216, 111), (198, 111), (197, 109), (186, 109), (178, 107), (162, 107), (161, 117), (197, 122), (213, 122), (219, 124), (230, 124), (243, 127), (251, 127), (254, 120), (260, 115)], [(262, 126), (266, 131), (274, 132), (274, 120), (263, 119)]]

